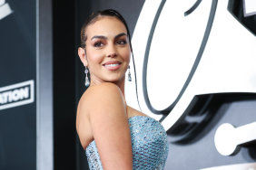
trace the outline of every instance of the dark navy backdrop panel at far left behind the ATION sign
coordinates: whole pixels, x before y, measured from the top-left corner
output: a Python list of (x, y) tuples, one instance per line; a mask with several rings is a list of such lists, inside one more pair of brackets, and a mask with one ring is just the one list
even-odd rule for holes
[[(0, 20), (0, 88), (36, 81), (35, 3), (5, 1), (13, 13)], [(0, 169), (36, 169), (35, 92), (34, 102), (0, 109)]]

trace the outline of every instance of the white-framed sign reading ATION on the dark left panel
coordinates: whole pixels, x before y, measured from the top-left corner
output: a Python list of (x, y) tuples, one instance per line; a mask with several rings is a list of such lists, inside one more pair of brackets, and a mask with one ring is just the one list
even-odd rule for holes
[(0, 88), (0, 110), (34, 102), (34, 80)]

